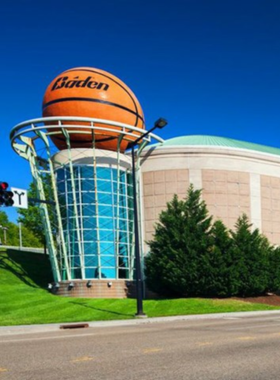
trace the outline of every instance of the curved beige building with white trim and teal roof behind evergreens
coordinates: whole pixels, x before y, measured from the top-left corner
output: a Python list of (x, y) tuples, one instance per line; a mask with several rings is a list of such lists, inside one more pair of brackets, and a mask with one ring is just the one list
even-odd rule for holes
[[(192, 183), (209, 213), (233, 229), (245, 213), (273, 244), (280, 244), (280, 149), (243, 141), (184, 136), (142, 154), (144, 237), (152, 239), (158, 215)], [(146, 246), (147, 251), (147, 246)]]

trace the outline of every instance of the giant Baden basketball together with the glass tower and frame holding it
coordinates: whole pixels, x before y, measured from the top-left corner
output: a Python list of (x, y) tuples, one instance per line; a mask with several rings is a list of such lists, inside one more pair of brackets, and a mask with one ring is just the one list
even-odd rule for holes
[[(127, 296), (135, 253), (131, 156), (125, 150), (144, 128), (142, 108), (120, 79), (80, 67), (49, 84), (43, 118), (12, 130), (13, 148), (29, 161), (41, 200), (57, 294)], [(144, 137), (139, 145), (148, 142)]]

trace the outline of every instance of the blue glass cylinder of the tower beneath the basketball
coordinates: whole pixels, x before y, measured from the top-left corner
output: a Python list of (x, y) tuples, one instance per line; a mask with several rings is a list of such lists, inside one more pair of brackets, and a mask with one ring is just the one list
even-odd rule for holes
[[(72, 279), (133, 277), (133, 198), (126, 170), (74, 165), (55, 170)], [(84, 271), (84, 273), (82, 273)], [(61, 277), (66, 268), (61, 261)]]

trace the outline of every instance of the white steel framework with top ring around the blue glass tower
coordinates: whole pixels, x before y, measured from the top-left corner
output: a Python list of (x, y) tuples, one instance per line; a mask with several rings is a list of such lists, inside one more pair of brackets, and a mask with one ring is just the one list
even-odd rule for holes
[[(116, 130), (116, 152), (95, 148), (97, 134), (116, 135)], [(90, 148), (72, 148), (71, 134), (77, 133), (91, 136)], [(51, 136), (57, 134), (64, 136), (66, 149), (53, 144)], [(29, 161), (41, 201), (55, 281), (134, 278), (131, 157), (120, 152), (120, 144), (141, 134), (130, 125), (81, 117), (34, 119), (12, 129), (12, 147)], [(152, 138), (163, 141), (151, 133), (139, 153)]]

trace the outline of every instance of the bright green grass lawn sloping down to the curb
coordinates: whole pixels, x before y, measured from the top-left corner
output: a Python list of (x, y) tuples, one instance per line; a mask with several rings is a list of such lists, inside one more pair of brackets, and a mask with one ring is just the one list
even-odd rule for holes
[[(63, 323), (134, 318), (133, 299), (84, 299), (52, 295), (52, 281), (44, 255), (0, 250), (0, 325)], [(165, 299), (144, 301), (148, 317), (275, 310), (269, 305), (237, 300)]]

